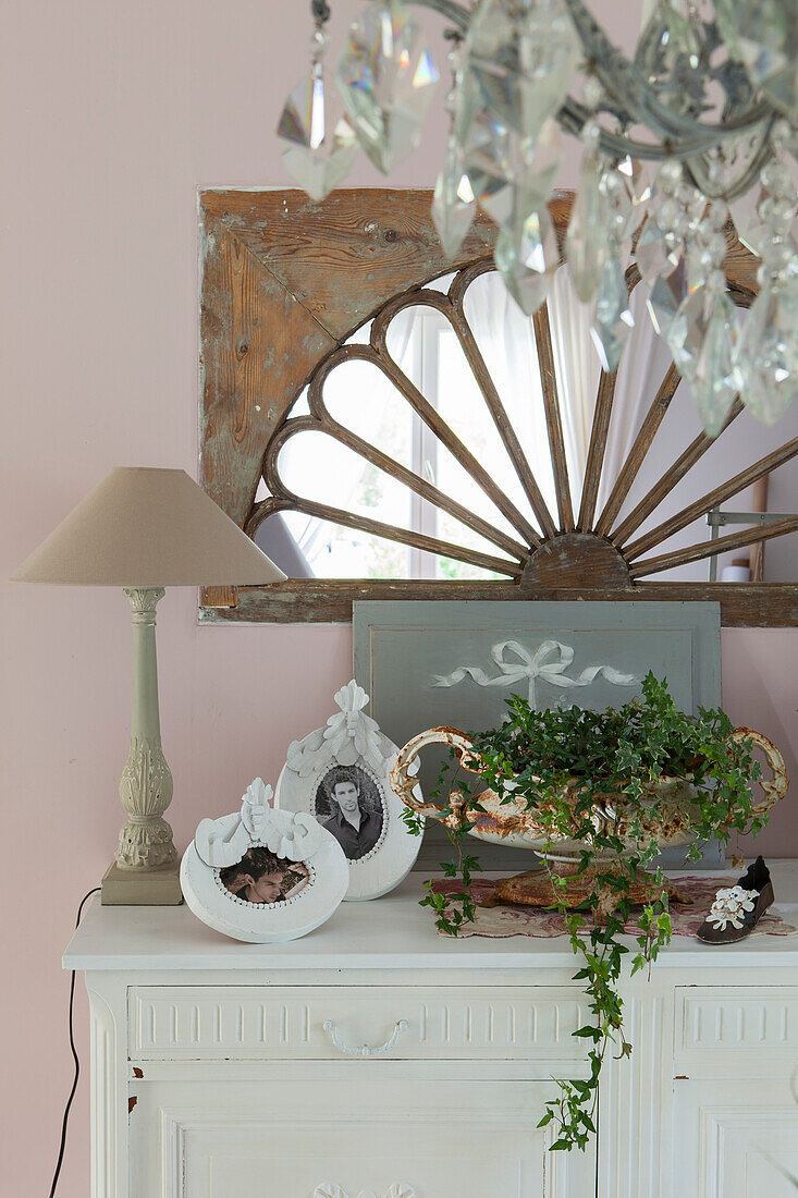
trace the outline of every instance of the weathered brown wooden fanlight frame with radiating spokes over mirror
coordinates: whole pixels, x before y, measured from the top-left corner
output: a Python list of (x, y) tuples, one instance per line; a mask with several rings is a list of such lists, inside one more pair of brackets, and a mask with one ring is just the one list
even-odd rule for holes
[[(655, 520), (673, 486), (689, 471), (700, 468), (713, 440), (702, 434), (676, 461), (664, 462), (658, 482), (631, 512), (623, 512), (655, 443), (679, 375), (675, 367), (669, 368), (651, 397), (617, 477), (607, 480), (603, 479), (603, 467), (616, 374), (601, 373), (585, 477), (569, 479), (552, 335), (544, 304), (534, 315), (534, 339), (556, 492), (555, 506), (548, 504), (464, 310), (468, 288), (494, 270), (494, 226), (478, 219), (459, 259), (451, 262), (437, 243), (429, 204), (428, 192), (412, 190), (343, 190), (321, 204), (310, 202), (296, 190), (202, 194), (201, 482), (250, 536), (276, 512), (300, 512), (467, 562), (498, 577), (473, 582), (320, 579), (237, 592), (213, 588), (204, 593), (202, 619), (345, 621), (351, 618), (352, 600), (367, 598), (581, 597), (717, 598), (726, 624), (794, 623), (798, 586), (669, 582), (658, 581), (657, 575), (797, 531), (798, 516), (790, 516), (687, 547), (663, 550), (675, 533), (794, 458), (798, 438), (641, 532), (649, 518)], [(569, 212), (568, 196), (551, 205), (561, 246)], [(756, 265), (756, 259), (730, 234), (725, 268), (730, 295), (742, 307), (748, 307), (755, 295)], [(447, 272), (453, 272), (453, 278), (446, 292), (428, 286)], [(639, 282), (634, 267), (627, 282), (630, 289)], [(418, 305), (436, 309), (457, 334), (533, 519), (513, 502), (501, 482), (491, 477), (392, 358), (388, 326), (403, 309)], [(368, 320), (369, 343), (346, 344)], [(504, 526), (494, 527), (369, 443), (357, 429), (333, 418), (325, 403), (325, 383), (333, 370), (351, 361), (371, 363), (391, 381), (502, 514), (509, 532)], [(309, 415), (292, 416), (291, 409), (306, 387)], [(726, 428), (740, 411), (737, 401)], [(280, 477), (279, 453), (288, 441), (307, 431), (322, 432), (346, 446), (477, 533), (489, 543), (490, 551), (388, 525), (377, 519), (379, 512), (371, 519), (289, 490)], [(268, 495), (256, 501), (261, 477)], [(600, 494), (606, 497), (599, 503)]]

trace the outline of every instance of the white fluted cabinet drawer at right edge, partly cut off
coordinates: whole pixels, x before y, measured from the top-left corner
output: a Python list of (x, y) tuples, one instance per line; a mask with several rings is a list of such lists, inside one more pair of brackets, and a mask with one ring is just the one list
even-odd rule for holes
[[(798, 1059), (798, 987), (681, 986), (676, 991), (677, 1064)], [(748, 1067), (748, 1066), (746, 1066)]]

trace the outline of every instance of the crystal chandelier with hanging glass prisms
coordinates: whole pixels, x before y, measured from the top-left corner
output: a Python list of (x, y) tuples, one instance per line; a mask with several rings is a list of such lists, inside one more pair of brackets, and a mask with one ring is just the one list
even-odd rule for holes
[[(451, 25), (451, 132), (433, 201), (446, 254), (482, 208), (497, 226), (496, 267), (531, 315), (558, 262), (546, 201), (562, 138), (579, 139), (566, 259), (601, 367), (617, 368), (634, 326), (631, 253), (707, 431), (738, 393), (772, 423), (798, 397), (798, 0), (645, 4), (628, 59), (582, 0), (371, 0), (331, 89), (330, 8), (313, 0), (310, 73), (278, 127), (285, 165), (322, 199), (358, 147), (388, 174), (418, 146), (439, 72), (412, 8), (434, 10)], [(742, 321), (723, 270), (732, 225), (760, 258)]]

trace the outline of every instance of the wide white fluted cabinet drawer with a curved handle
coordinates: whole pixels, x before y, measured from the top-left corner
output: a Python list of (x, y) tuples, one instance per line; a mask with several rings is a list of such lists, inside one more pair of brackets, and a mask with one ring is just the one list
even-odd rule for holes
[(132, 1060), (584, 1058), (587, 1022), (562, 987), (134, 986)]

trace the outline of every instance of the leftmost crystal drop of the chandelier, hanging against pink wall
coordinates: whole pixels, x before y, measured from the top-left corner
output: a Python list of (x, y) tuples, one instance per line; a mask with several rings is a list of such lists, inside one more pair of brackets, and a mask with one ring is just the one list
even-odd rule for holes
[(345, 116), (328, 133), (321, 62), (290, 93), (277, 135), (285, 169), (314, 200), (324, 200), (345, 177), (357, 153), (357, 138)]

